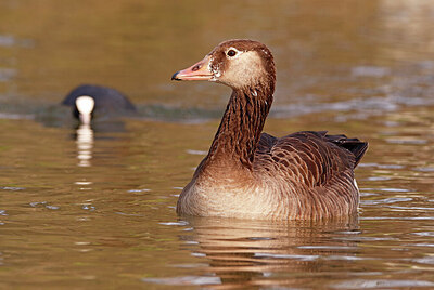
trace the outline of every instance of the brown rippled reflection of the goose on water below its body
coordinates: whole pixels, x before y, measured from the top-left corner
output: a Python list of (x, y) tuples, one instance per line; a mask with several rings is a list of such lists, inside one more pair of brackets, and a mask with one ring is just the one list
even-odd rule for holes
[[(267, 222), (228, 219), (189, 219), (193, 226), (189, 238), (199, 242), (197, 251), (209, 261), (225, 286), (253, 287), (302, 285), (311, 282), (306, 273), (322, 272), (329, 256), (350, 259), (357, 243), (337, 232), (358, 228), (357, 215), (343, 221)], [(354, 234), (350, 235), (354, 237)], [(279, 275), (279, 273), (295, 275)], [(296, 275), (303, 273), (303, 277)], [(272, 274), (272, 275), (271, 275)]]

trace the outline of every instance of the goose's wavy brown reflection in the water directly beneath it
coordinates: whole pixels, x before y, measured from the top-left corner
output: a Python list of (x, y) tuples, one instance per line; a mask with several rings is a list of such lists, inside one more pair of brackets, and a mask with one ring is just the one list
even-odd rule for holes
[(200, 260), (181, 266), (203, 274), (145, 278), (144, 281), (163, 285), (182, 281), (200, 284), (206, 289), (267, 286), (328, 289), (322, 282), (330, 282), (330, 275), (341, 277), (347, 271), (343, 261), (358, 259), (357, 214), (345, 221), (272, 222), (194, 216), (187, 221), (191, 230), (184, 232), (180, 239), (186, 241), (183, 248)]

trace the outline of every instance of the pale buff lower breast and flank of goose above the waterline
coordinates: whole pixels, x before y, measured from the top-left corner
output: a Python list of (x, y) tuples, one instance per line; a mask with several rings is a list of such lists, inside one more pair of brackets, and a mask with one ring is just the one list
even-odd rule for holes
[(243, 186), (192, 181), (181, 193), (177, 212), (199, 216), (260, 220), (318, 220), (357, 212), (357, 183), (308, 188), (278, 179), (256, 180)]

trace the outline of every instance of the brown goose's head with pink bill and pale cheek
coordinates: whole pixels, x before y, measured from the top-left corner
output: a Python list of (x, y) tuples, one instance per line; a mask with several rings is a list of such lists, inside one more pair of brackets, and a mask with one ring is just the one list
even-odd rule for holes
[(202, 61), (179, 70), (173, 80), (208, 80), (234, 90), (275, 87), (276, 69), (269, 49), (260, 42), (234, 39), (221, 42)]

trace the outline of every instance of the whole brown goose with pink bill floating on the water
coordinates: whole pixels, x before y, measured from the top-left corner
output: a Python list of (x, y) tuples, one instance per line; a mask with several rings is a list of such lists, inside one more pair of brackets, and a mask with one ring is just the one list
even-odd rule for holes
[(209, 153), (179, 197), (178, 214), (318, 220), (357, 212), (354, 169), (368, 143), (327, 132), (280, 139), (261, 133), (276, 83), (266, 45), (225, 41), (171, 79), (232, 88)]

